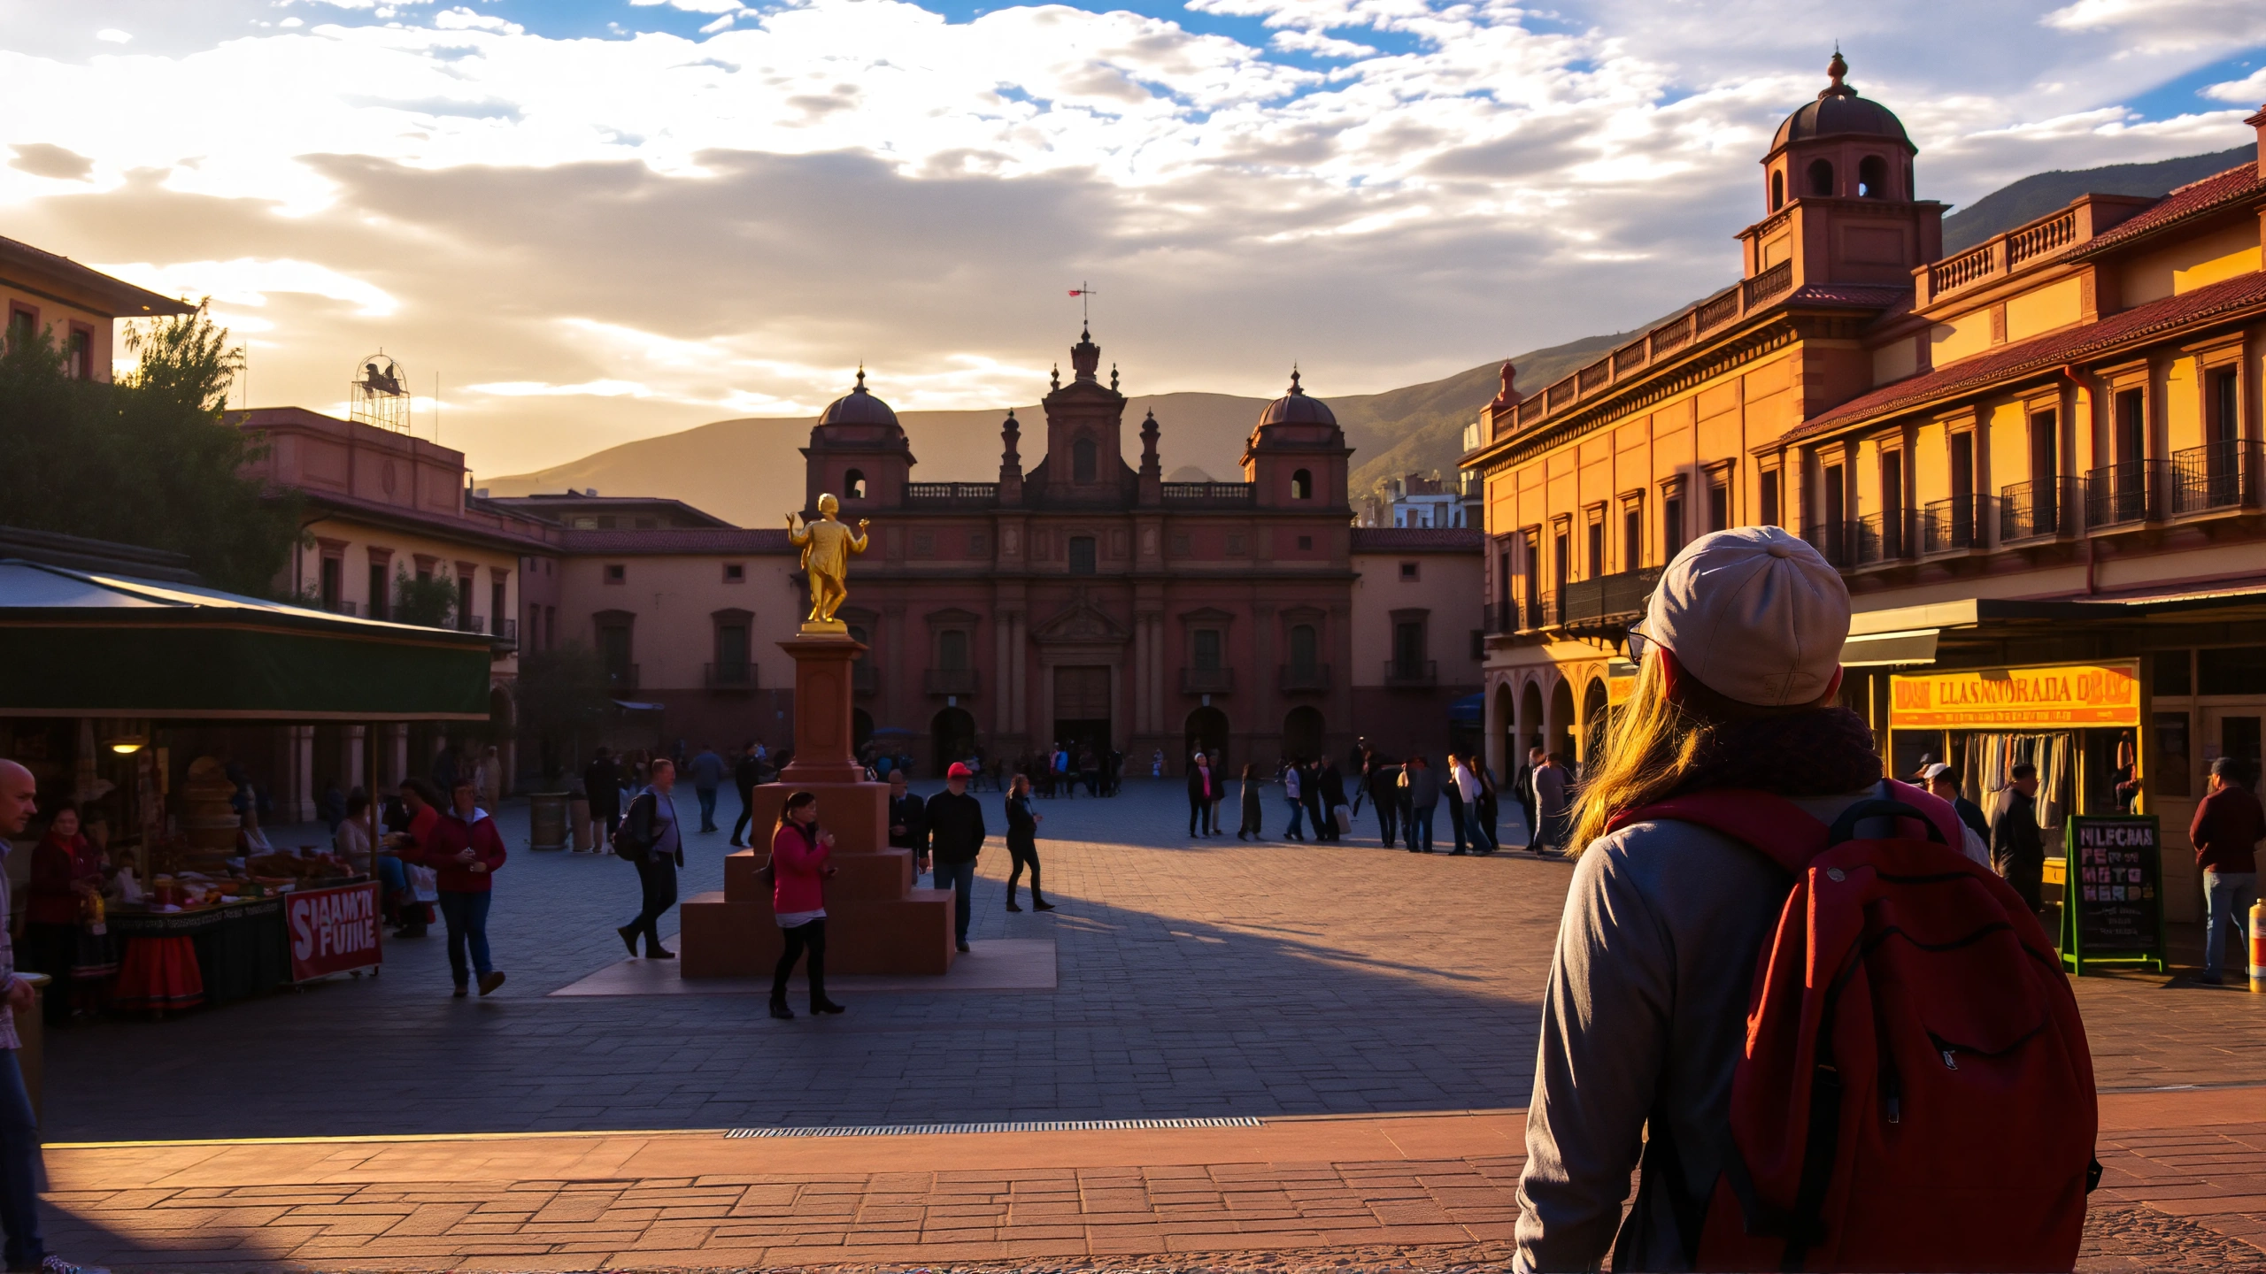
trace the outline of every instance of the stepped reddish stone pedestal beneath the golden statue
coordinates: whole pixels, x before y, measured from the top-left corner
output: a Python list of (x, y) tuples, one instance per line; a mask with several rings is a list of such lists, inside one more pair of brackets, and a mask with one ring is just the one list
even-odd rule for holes
[(757, 870), (789, 793), (818, 796), (818, 825), (834, 832), (827, 882), (827, 973), (934, 973), (952, 968), (952, 891), (915, 889), (911, 850), (888, 848), (888, 784), (863, 782), (850, 755), (850, 664), (866, 646), (847, 632), (809, 632), (780, 648), (795, 660), (795, 755), (752, 793), (748, 839), (723, 864), (723, 891), (680, 911), (684, 977), (764, 977), (780, 959), (780, 925)]

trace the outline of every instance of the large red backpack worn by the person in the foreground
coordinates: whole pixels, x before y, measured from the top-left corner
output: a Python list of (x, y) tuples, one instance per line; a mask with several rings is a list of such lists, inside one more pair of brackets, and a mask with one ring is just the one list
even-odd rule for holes
[[(1697, 1269), (2069, 1269), (2094, 1163), (2094, 1061), (2060, 954), (1960, 821), (1899, 782), (1824, 827), (1763, 791), (1627, 812), (1792, 873), (1747, 1000)], [(1926, 839), (1854, 839), (1899, 818)]]

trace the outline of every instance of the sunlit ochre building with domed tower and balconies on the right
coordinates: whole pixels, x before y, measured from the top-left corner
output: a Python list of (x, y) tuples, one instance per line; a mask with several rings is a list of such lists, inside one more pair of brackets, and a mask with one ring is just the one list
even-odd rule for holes
[(1897, 773), (1987, 807), (2035, 759), (2048, 843), (2159, 814), (2193, 920), (2189, 814), (2266, 719), (2266, 111), (2250, 163), (1944, 258), (1903, 125), (1829, 75), (1763, 156), (1745, 277), (1473, 431), (1489, 762), (1588, 753), (1661, 564), (1786, 526), (1849, 580), (1842, 694)]

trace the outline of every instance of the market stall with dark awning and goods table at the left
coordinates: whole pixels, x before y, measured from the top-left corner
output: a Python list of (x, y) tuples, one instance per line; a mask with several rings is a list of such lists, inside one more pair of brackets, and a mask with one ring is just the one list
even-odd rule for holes
[[(376, 968), (369, 852), (274, 848), (215, 725), (358, 728), (360, 787), (385, 791), (410, 721), (487, 721), (489, 642), (204, 589), (0, 560), (0, 755), (88, 809), (138, 882), (100, 923), (125, 941), (116, 1002), (186, 1009)], [(376, 805), (365, 814), (376, 843)]]

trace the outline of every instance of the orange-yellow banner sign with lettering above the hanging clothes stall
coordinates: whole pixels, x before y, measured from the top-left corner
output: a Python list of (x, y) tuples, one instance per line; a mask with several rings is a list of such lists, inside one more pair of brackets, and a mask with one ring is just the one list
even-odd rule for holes
[(2139, 660), (1890, 678), (1892, 730), (2139, 725)]

